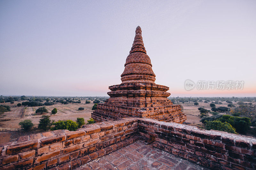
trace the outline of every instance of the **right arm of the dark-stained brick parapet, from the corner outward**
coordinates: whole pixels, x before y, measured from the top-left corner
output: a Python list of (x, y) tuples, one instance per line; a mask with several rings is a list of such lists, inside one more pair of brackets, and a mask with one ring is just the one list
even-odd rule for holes
[(139, 135), (154, 146), (211, 169), (256, 169), (256, 138), (138, 119)]

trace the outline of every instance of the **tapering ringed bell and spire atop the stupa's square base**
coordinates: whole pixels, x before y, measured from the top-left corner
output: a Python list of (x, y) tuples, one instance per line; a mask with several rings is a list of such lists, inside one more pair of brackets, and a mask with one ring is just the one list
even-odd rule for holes
[(141, 28), (138, 26), (135, 30), (135, 37), (130, 54), (124, 64), (124, 72), (121, 74), (123, 83), (153, 83), (155, 84), (156, 75), (152, 70), (150, 58), (141, 35)]

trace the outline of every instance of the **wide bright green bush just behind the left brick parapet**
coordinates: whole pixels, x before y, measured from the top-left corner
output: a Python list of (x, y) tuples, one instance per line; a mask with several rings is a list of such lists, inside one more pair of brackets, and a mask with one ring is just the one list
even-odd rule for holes
[(75, 131), (78, 128), (78, 124), (72, 120), (59, 120), (53, 122), (52, 125), (54, 127), (52, 127), (51, 130), (68, 129), (69, 131)]

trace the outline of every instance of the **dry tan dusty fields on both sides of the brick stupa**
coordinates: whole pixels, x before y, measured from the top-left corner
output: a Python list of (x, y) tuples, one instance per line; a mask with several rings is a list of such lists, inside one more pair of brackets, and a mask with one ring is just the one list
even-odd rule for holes
[[(56, 115), (51, 115), (51, 120), (73, 120), (76, 121), (76, 118), (84, 118), (85, 122), (91, 118), (92, 113), (92, 106), (94, 103), (91, 101), (90, 104), (85, 104), (85, 101), (81, 101), (81, 104), (54, 104), (52, 106), (45, 106), (49, 113), (46, 113), (44, 115), (50, 115), (53, 108), (57, 108), (58, 112)], [(24, 107), (20, 106), (18, 107), (17, 104), (21, 102), (14, 102), (14, 104), (10, 103), (4, 103), (4, 105), (9, 105), (11, 107), (10, 112), (4, 112), (4, 114), (0, 115), (0, 144), (14, 141), (19, 136), (22, 135), (28, 135), (32, 133), (39, 133), (39, 131), (35, 128), (31, 132), (24, 132), (23, 130), (20, 130), (20, 126), (18, 125), (20, 121), (23, 121), (25, 119), (30, 119), (37, 127), (40, 117), (42, 115), (34, 115), (36, 113), (36, 109), (42, 106), (37, 107)], [(199, 121), (200, 118), (200, 112), (198, 110), (199, 107), (204, 107), (207, 110), (210, 110), (210, 103), (204, 103), (204, 102), (198, 102), (199, 105), (194, 105), (194, 102), (190, 103), (180, 103), (180, 105), (183, 106), (183, 112), (187, 115), (187, 124), (191, 124), (194, 126), (202, 125), (202, 123)], [(216, 104), (216, 107), (220, 106), (226, 106), (226, 102), (222, 102), (223, 104)], [(233, 102), (234, 105), (236, 103)], [(84, 110), (79, 111), (79, 107), (84, 107)], [(211, 114), (210, 114), (211, 116)]]

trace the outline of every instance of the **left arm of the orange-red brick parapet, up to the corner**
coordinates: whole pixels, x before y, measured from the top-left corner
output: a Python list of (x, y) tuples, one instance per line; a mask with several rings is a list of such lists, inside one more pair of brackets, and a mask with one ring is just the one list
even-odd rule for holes
[(136, 119), (123, 118), (86, 125), (78, 131), (22, 136), (0, 146), (0, 169), (73, 169), (132, 143), (130, 137), (137, 131)]

